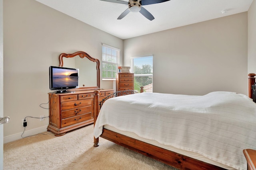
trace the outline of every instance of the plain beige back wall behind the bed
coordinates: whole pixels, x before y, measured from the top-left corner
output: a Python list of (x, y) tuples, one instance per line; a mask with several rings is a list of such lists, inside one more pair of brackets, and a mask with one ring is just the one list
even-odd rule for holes
[(144, 55), (154, 92), (247, 94), (247, 12), (124, 40), (125, 66)]

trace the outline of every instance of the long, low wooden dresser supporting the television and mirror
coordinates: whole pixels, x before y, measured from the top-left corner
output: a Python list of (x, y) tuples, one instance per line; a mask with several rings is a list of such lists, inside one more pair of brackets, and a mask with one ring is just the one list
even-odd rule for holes
[[(100, 91), (100, 101), (114, 90)], [(73, 93), (49, 94), (49, 125), (47, 131), (55, 136), (94, 122), (94, 90), (81, 90)]]

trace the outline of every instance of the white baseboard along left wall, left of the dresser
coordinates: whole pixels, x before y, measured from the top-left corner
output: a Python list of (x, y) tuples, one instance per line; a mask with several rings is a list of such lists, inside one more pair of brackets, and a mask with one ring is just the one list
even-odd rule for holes
[[(17, 133), (15, 135), (6, 136), (6, 137), (4, 137), (4, 143), (16, 141), (18, 139), (22, 139), (22, 137), (28, 137), (28, 136), (31, 136), (31, 135), (36, 135), (38, 133), (45, 132), (46, 130), (47, 130), (47, 126), (43, 126), (43, 127), (39, 127), (39, 128), (36, 128), (36, 129), (31, 129), (29, 131), (25, 131), (23, 135), (22, 135), (22, 133)], [(22, 135), (22, 137), (21, 137), (21, 135)]]

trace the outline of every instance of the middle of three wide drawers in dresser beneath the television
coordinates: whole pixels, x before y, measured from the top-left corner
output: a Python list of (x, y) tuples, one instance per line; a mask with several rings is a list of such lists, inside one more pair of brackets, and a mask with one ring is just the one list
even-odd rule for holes
[(78, 107), (76, 109), (70, 109), (61, 111), (61, 119), (76, 116), (76, 115), (82, 115), (85, 113), (92, 113), (92, 106), (85, 106), (85, 107)]

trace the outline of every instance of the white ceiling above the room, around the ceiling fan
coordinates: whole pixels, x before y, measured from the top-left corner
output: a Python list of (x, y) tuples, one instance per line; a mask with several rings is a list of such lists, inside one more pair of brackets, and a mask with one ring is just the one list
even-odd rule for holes
[[(101, 0), (36, 0), (68, 16), (92, 25), (121, 39), (137, 37), (212, 20), (248, 11), (253, 0), (170, 0), (143, 6), (154, 20), (146, 19), (139, 12), (130, 12), (122, 20), (118, 16), (128, 5)], [(123, 0), (128, 2), (128, 0)], [(222, 14), (222, 10), (228, 12)]]

